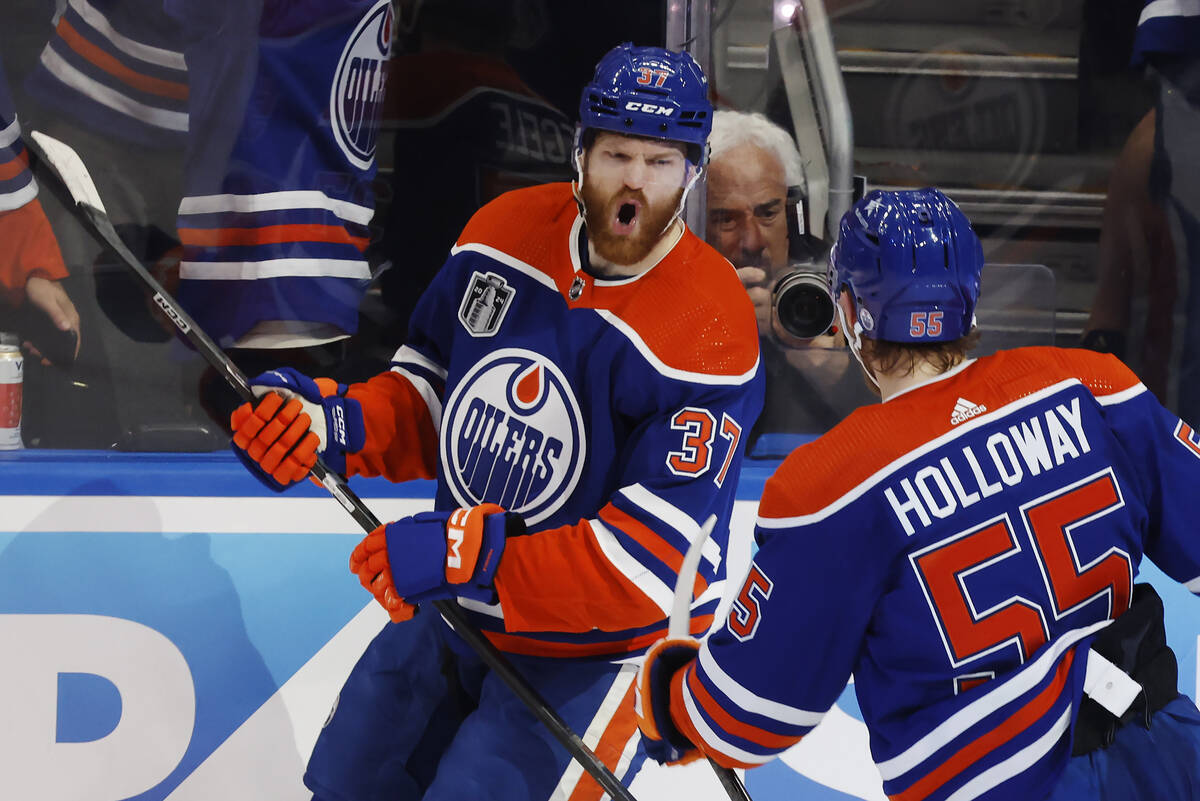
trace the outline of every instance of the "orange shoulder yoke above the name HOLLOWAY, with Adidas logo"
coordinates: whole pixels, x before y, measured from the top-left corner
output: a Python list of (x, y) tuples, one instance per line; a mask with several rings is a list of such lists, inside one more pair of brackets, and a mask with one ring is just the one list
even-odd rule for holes
[(1140, 386), (1128, 367), (1106, 354), (1064, 348), (1003, 350), (887, 403), (857, 409), (823, 436), (797, 448), (768, 480), (758, 513), (768, 518), (816, 513), (967, 420), (1070, 383), (1082, 384), (1098, 398)]

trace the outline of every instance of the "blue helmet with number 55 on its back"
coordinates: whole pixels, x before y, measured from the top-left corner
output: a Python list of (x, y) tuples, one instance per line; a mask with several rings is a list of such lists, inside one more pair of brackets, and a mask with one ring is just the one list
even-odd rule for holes
[(875, 189), (841, 218), (829, 288), (848, 288), (864, 337), (950, 342), (974, 324), (982, 270), (983, 246), (953, 200)]

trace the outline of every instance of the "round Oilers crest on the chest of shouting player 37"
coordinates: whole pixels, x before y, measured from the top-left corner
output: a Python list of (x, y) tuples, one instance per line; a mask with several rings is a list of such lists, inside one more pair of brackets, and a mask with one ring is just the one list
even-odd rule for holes
[(442, 465), (462, 506), (499, 504), (539, 523), (570, 496), (586, 453), (583, 415), (566, 378), (532, 350), (487, 354), (445, 404)]

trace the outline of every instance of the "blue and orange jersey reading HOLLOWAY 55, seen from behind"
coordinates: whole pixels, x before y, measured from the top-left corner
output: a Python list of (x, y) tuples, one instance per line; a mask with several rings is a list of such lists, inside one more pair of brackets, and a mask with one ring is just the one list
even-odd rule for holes
[(1001, 351), (859, 409), (768, 481), (672, 716), (754, 766), (853, 674), (890, 799), (1045, 797), (1141, 559), (1200, 590), (1198, 486), (1200, 436), (1111, 356)]

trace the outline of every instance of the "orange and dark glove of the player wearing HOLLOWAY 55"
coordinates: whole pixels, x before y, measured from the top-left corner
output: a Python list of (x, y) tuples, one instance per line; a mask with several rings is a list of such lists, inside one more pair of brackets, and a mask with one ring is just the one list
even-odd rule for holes
[(696, 660), (700, 640), (691, 637), (660, 639), (646, 652), (637, 671), (635, 711), (642, 730), (646, 753), (664, 765), (685, 765), (701, 753), (671, 719), (671, 691), (683, 681), (684, 668)]

